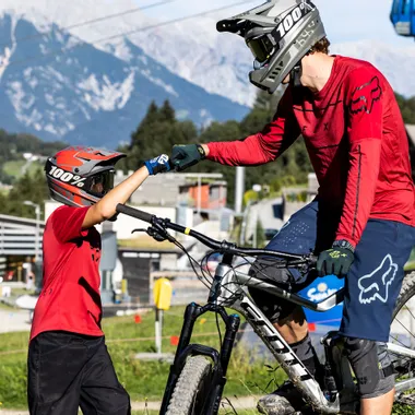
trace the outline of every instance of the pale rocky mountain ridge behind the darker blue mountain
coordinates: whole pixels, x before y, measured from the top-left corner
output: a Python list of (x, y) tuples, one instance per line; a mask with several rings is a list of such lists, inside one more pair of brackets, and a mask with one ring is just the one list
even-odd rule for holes
[[(27, 0), (2, 0), (0, 10), (13, 9), (24, 13), (38, 31), (47, 28), (45, 21), (47, 16), (50, 22), (62, 27), (69, 26), (68, 31), (73, 36), (88, 43), (156, 23), (143, 12), (134, 11), (84, 26), (75, 25), (137, 9), (138, 3), (132, 0), (72, 0), (71, 2), (36, 0), (31, 3), (27, 5)], [(163, 7), (159, 7), (159, 11), (162, 15)], [(230, 14), (232, 11), (225, 10), (215, 15), (209, 14), (180, 23), (161, 25), (133, 33), (127, 36), (127, 39), (187, 81), (210, 93), (251, 106), (257, 94), (257, 88), (248, 81), (252, 56), (240, 37), (216, 32), (216, 22)], [(122, 36), (96, 43), (94, 46), (127, 62), (134, 60), (134, 57), (129, 55), (130, 49)], [(333, 45), (332, 52), (370, 61), (384, 72), (396, 92), (405, 96), (415, 95), (415, 80), (411, 76), (415, 63), (415, 48), (399, 48), (379, 42), (363, 40)]]

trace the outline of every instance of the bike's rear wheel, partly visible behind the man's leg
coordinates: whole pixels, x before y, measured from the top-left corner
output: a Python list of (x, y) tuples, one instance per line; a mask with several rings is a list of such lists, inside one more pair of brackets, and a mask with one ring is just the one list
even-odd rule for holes
[[(415, 272), (403, 281), (393, 312), (389, 342), (415, 351)], [(390, 352), (393, 366), (398, 371), (396, 382), (415, 379), (415, 358)], [(399, 393), (396, 402), (415, 406), (415, 389)]]

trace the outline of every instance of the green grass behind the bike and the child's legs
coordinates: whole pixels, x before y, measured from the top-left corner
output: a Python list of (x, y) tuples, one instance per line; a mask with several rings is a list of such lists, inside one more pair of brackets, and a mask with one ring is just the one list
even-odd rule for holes
[[(163, 352), (175, 352), (170, 336), (178, 336), (182, 323), (182, 307), (174, 307), (164, 316)], [(106, 318), (103, 321), (109, 353), (120, 382), (129, 391), (131, 401), (161, 401), (167, 380), (167, 363), (138, 360), (140, 352), (154, 352), (154, 312), (141, 315), (135, 323), (134, 316)], [(222, 325), (222, 333), (223, 333)], [(216, 320), (206, 315), (194, 325), (193, 342), (218, 346)], [(0, 334), (0, 402), (3, 408), (26, 407), (26, 351), (28, 333)], [(285, 374), (265, 361), (253, 360), (254, 353), (247, 354), (235, 348), (229, 363), (224, 396), (262, 395), (271, 392), (285, 379)], [(413, 408), (395, 405), (394, 415), (413, 414)], [(155, 411), (135, 411), (134, 415), (155, 415)], [(221, 415), (235, 412), (223, 410)], [(236, 412), (237, 415), (256, 415), (254, 410)]]

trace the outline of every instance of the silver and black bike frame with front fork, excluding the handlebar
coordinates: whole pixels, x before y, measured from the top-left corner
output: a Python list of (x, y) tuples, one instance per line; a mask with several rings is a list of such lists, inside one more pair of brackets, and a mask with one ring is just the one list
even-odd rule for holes
[[(270, 320), (250, 299), (244, 287), (256, 287), (274, 294), (275, 297), (285, 298), (303, 307), (321, 312), (330, 310), (343, 301), (344, 288), (339, 289), (319, 303), (313, 303), (265, 281), (238, 272), (234, 270), (230, 263), (232, 261), (225, 256), (224, 261), (217, 265), (208, 304), (201, 307), (192, 303), (185, 312), (183, 328), (180, 334), (175, 361), (170, 368), (161, 415), (165, 414), (167, 410), (171, 392), (185, 366), (186, 359), (194, 355), (205, 355), (211, 357), (214, 363), (211, 381), (212, 387), (206, 394), (210, 399), (206, 401), (201, 415), (216, 415), (218, 413), (222, 392), (226, 383), (225, 376), (227, 365), (239, 327), (238, 317), (235, 315), (228, 316), (225, 307), (232, 308), (245, 317), (313, 411), (322, 414), (356, 414), (359, 402), (355, 393), (355, 384), (346, 358), (342, 356), (341, 353), (337, 353), (334, 364), (337, 366), (337, 371), (342, 374), (344, 389), (341, 394), (335, 396), (335, 400), (329, 400), (321, 390), (320, 384), (313, 379)], [(218, 312), (226, 324), (226, 332), (220, 353), (212, 347), (189, 344), (194, 322), (200, 316), (208, 311)], [(388, 348), (398, 355), (415, 358), (415, 351), (410, 348), (398, 346), (393, 343), (388, 343)], [(412, 388), (415, 388), (415, 379), (403, 380), (395, 384), (396, 393)]]

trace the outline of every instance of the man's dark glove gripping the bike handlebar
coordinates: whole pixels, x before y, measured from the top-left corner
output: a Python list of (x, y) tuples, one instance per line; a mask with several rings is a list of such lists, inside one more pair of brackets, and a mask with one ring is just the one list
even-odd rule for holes
[(317, 260), (317, 271), (320, 276), (337, 275), (344, 278), (355, 259), (354, 248), (346, 240), (336, 240), (332, 249), (322, 251)]

